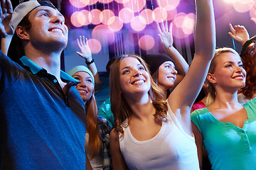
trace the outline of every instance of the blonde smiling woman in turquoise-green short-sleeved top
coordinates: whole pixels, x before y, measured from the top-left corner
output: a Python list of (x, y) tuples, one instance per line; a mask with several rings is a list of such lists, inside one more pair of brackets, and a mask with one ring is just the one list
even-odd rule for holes
[(207, 75), (210, 105), (191, 115), (199, 162), (204, 145), (212, 169), (256, 167), (256, 99), (238, 103), (245, 76), (238, 52), (227, 47), (215, 51)]

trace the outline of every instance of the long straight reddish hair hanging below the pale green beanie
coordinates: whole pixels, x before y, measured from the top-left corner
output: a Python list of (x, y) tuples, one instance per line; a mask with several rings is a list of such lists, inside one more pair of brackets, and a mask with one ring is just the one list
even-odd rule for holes
[(100, 152), (100, 134), (97, 125), (97, 104), (94, 90), (92, 96), (85, 103), (85, 113), (87, 118), (87, 132), (89, 134), (88, 148), (92, 153), (92, 158)]

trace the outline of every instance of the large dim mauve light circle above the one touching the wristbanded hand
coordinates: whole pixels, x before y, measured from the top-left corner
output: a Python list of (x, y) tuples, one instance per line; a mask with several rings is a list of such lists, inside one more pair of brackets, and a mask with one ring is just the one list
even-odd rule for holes
[(110, 30), (106, 25), (100, 24), (93, 28), (92, 38), (99, 40), (102, 45), (109, 45), (114, 42), (114, 32)]

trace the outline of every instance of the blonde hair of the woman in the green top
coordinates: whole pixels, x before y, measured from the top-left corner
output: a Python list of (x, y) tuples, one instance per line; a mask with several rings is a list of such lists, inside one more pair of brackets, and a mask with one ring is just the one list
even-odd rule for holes
[[(218, 63), (218, 57), (225, 52), (232, 52), (235, 55), (239, 56), (238, 52), (236, 52), (235, 50), (233, 50), (233, 48), (230, 48), (230, 47), (222, 47), (222, 48), (216, 49), (215, 54), (213, 56), (213, 60), (211, 60), (211, 62), (210, 62), (210, 67), (209, 67), (208, 73), (214, 74), (216, 65)], [(206, 79), (206, 82), (208, 84), (208, 96), (207, 96), (207, 100), (206, 100), (206, 106), (209, 106), (215, 100), (216, 91), (215, 91), (213, 84), (211, 84), (210, 81), (208, 81), (208, 79)]]

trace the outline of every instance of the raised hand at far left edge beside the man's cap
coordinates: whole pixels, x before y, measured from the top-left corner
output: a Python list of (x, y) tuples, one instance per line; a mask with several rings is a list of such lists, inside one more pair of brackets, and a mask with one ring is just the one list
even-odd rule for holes
[(11, 5), (11, 0), (1, 0), (0, 8), (0, 32), (1, 38), (6, 38), (11, 33), (11, 28), (9, 23), (11, 21), (11, 14), (13, 13), (13, 7)]

